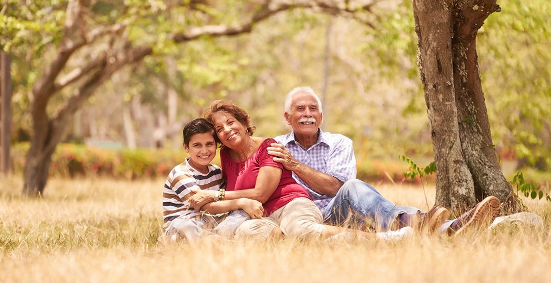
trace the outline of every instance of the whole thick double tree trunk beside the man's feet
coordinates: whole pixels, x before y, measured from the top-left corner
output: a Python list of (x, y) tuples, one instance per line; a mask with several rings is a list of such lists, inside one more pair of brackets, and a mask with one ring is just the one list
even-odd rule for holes
[(436, 160), (436, 203), (464, 211), (494, 195), (516, 210), (491, 141), (476, 51), (495, 0), (414, 0), (418, 65)]

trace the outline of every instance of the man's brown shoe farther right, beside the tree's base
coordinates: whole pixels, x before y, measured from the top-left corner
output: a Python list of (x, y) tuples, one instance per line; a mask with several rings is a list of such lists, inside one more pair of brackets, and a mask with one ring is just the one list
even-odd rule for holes
[(478, 202), (473, 209), (463, 213), (459, 218), (453, 221), (448, 233), (450, 235), (459, 234), (466, 229), (479, 229), (485, 225), (489, 225), (494, 221), (499, 213), (500, 201), (495, 196), (488, 196)]

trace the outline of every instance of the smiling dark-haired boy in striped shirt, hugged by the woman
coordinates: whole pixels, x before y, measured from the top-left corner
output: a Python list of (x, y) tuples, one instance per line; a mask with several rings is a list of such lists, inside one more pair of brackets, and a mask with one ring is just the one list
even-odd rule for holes
[[(163, 189), (165, 236), (188, 241), (204, 236), (231, 237), (242, 222), (262, 216), (262, 204), (256, 200), (223, 200), (222, 169), (210, 164), (217, 148), (212, 124), (202, 118), (188, 122), (183, 128), (182, 146), (190, 157), (171, 170)], [(187, 200), (197, 188), (217, 191), (214, 201), (201, 207), (202, 211), (194, 210)], [(230, 215), (217, 216), (230, 211)]]

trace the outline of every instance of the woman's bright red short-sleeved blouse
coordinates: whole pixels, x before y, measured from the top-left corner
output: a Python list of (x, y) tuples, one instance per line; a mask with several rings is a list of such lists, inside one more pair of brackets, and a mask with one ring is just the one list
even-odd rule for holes
[(225, 147), (220, 150), (220, 161), (222, 162), (222, 173), (227, 181), (226, 190), (244, 190), (253, 189), (256, 185), (258, 170), (264, 166), (278, 167), (283, 170), (279, 185), (274, 193), (264, 202), (264, 216), (269, 216), (272, 212), (288, 204), (296, 197), (310, 196), (306, 189), (297, 184), (293, 179), (291, 171), (283, 168), (279, 162), (273, 161), (273, 156), (268, 154), (267, 147), (276, 142), (273, 138), (266, 138), (251, 157), (243, 162), (236, 162), (230, 157), (230, 150)]

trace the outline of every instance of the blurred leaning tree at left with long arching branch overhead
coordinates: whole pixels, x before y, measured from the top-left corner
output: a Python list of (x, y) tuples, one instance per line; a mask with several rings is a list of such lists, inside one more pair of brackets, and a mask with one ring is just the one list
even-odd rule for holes
[[(64, 3), (59, 4), (63, 7), (61, 4)], [(17, 10), (17, 1), (8, 5), (10, 11)], [(363, 9), (362, 6), (351, 8), (348, 1), (264, 1), (255, 4), (240, 1), (171, 1), (168, 4), (133, 1), (127, 4), (69, 0), (66, 7), (64, 13), (58, 13), (64, 20), (63, 28), (55, 30), (57, 51), (33, 85), (33, 135), (26, 157), (23, 189), (28, 195), (41, 194), (44, 190), (52, 153), (66, 134), (74, 113), (118, 70), (142, 61), (165, 45), (182, 44), (205, 36), (249, 33), (253, 25), (284, 10), (310, 7), (331, 13), (352, 13)], [(33, 17), (33, 12), (50, 13), (56, 9), (59, 7), (34, 3), (26, 11), (30, 15), (20, 11), (14, 13)], [(56, 20), (61, 23), (60, 19)], [(104, 47), (100, 47), (99, 52), (90, 50), (92, 46), (97, 47), (96, 44)], [(85, 59), (68, 70), (73, 56)], [(48, 115), (48, 103), (52, 97), (68, 87), (72, 94), (60, 109)]]

